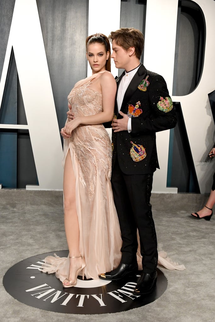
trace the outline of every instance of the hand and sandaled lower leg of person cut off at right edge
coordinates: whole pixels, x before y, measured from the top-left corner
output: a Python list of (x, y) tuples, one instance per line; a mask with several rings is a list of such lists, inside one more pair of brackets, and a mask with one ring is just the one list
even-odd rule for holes
[[(211, 149), (209, 152), (210, 158), (214, 157), (215, 155), (215, 146)], [(213, 205), (215, 204), (215, 173), (213, 175), (213, 185), (211, 188), (210, 196), (208, 198), (208, 201), (206, 202), (206, 205), (198, 211), (198, 213), (191, 213), (193, 217), (196, 219), (202, 219), (209, 221), (213, 214)]]

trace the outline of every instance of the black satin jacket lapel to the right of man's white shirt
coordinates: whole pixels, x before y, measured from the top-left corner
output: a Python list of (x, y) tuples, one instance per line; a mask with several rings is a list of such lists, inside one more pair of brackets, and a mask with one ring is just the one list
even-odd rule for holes
[(138, 85), (144, 79), (144, 77), (146, 77), (146, 69), (141, 64), (140, 68), (138, 69), (138, 71), (136, 72), (134, 77), (132, 78), (132, 81), (129, 84), (129, 86), (128, 86), (126, 92), (125, 92), (125, 95), (124, 95), (124, 98), (123, 98), (123, 101), (122, 101), (121, 109), (123, 109), (124, 105), (127, 104), (127, 102), (130, 100), (131, 96), (137, 90)]

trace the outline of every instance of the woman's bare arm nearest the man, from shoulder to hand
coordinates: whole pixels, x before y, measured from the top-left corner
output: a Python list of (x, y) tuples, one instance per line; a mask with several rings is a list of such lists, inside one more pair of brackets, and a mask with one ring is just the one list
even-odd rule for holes
[(67, 135), (71, 135), (73, 129), (77, 128), (80, 124), (94, 125), (112, 120), (116, 95), (116, 81), (110, 72), (103, 73), (99, 77), (99, 81), (102, 91), (103, 112), (74, 118), (64, 127), (63, 131)]

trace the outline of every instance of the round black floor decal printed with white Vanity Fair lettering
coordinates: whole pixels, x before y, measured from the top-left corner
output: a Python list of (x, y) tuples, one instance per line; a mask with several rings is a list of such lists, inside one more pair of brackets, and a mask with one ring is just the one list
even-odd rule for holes
[(55, 274), (40, 271), (46, 256), (67, 257), (56, 251), (29, 257), (11, 267), (4, 276), (6, 291), (19, 302), (46, 311), (72, 314), (103, 314), (139, 308), (159, 298), (167, 288), (167, 279), (158, 269), (157, 285), (148, 295), (132, 294), (138, 275), (118, 282), (78, 279), (77, 285), (63, 288)]

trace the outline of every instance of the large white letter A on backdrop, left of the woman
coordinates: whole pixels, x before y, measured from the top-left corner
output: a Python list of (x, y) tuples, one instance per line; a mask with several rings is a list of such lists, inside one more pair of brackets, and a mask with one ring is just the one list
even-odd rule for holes
[(36, 0), (15, 1), (0, 81), (0, 105), (12, 47), (28, 125), (0, 127), (29, 130), (39, 186), (26, 188), (61, 190), (62, 145)]

